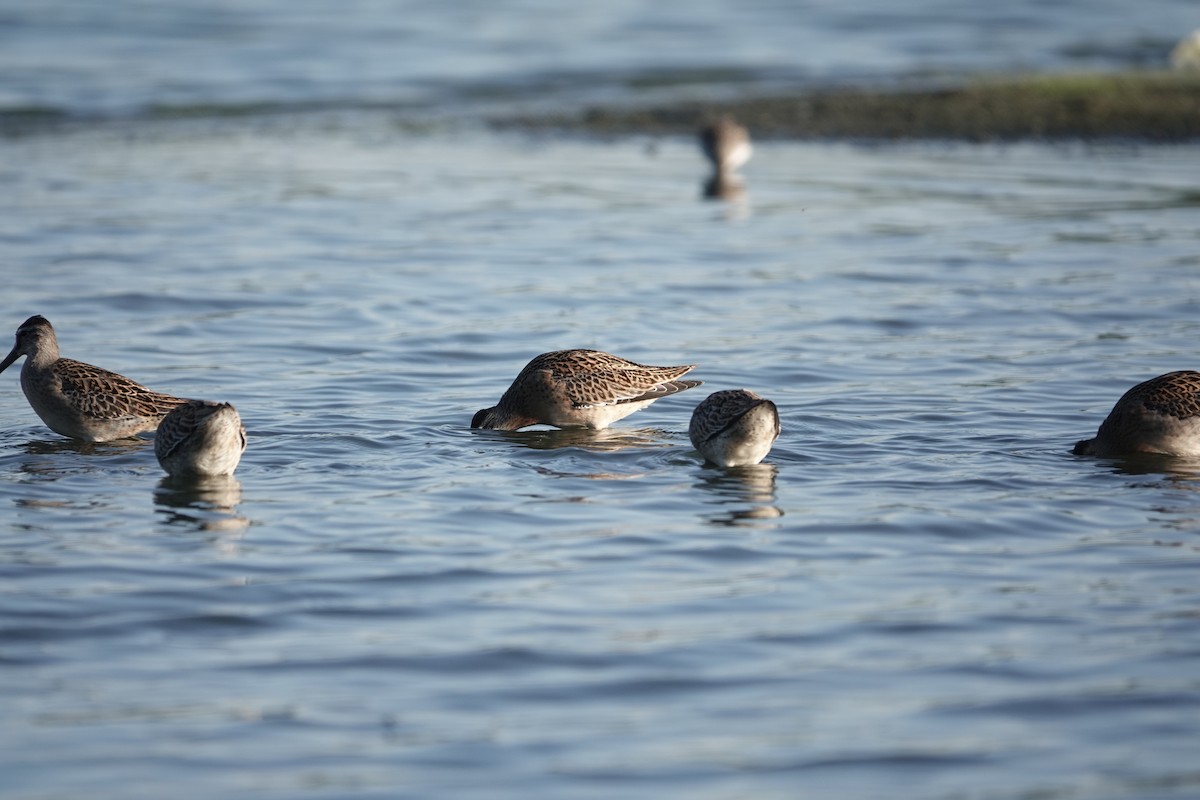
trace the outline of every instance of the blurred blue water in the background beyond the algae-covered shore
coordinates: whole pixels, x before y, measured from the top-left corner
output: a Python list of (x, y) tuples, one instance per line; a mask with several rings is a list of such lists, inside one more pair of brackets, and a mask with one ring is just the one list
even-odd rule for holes
[(1194, 0), (0, 0), (0, 110), (706, 96), (798, 82), (1163, 67)]

